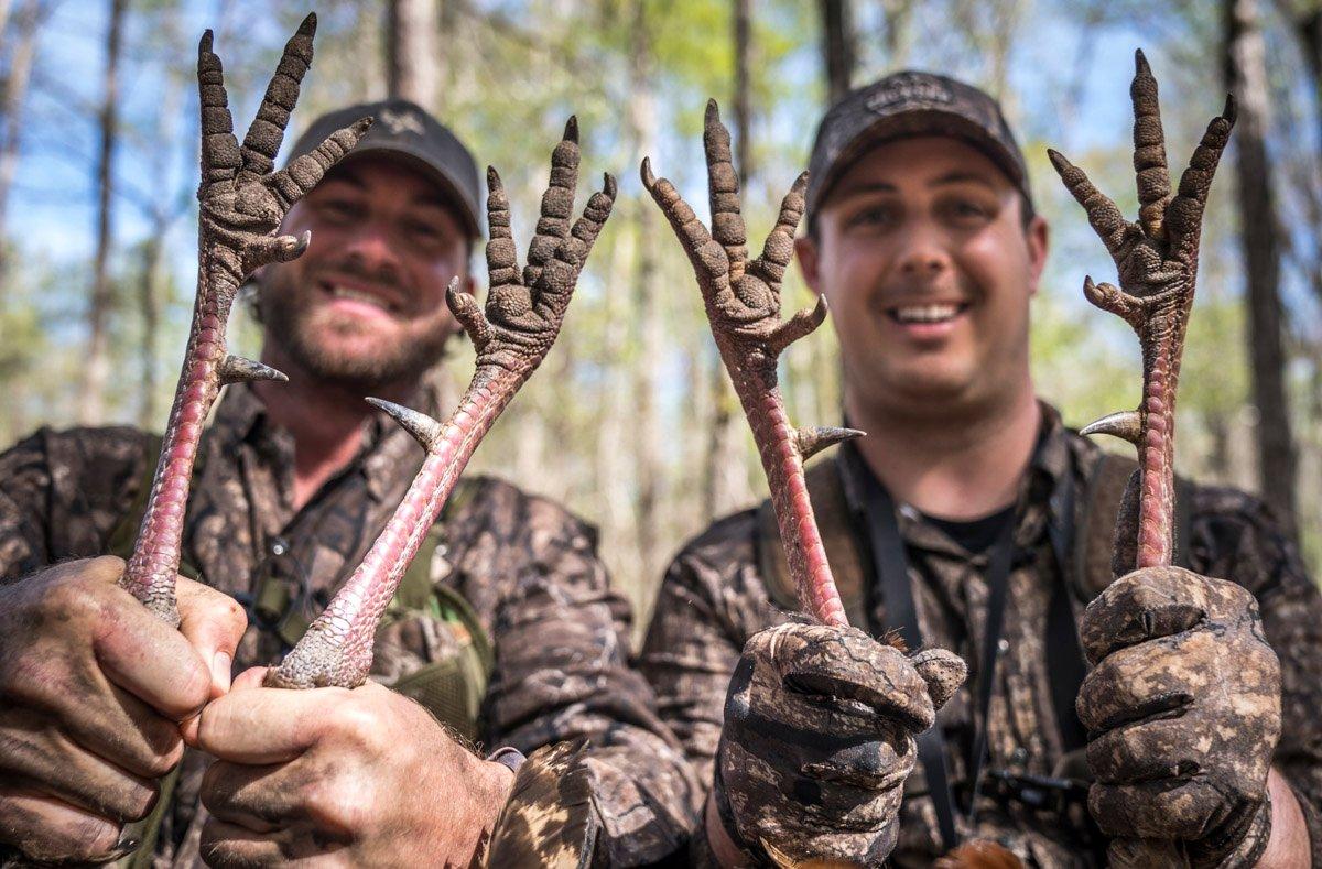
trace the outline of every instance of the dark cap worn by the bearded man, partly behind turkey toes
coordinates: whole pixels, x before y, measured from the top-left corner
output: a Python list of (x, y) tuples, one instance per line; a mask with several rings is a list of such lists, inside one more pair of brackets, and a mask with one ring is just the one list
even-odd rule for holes
[[(293, 143), (288, 160), (316, 148), (323, 139), (360, 118), (375, 122), (349, 155), (348, 161), (369, 153), (389, 155), (430, 178), (453, 202), (456, 217), (472, 239), (481, 238), (477, 219), (481, 188), (477, 164), (455, 133), (406, 99), (386, 99), (349, 106), (317, 118)], [(344, 165), (344, 164), (341, 164)]]

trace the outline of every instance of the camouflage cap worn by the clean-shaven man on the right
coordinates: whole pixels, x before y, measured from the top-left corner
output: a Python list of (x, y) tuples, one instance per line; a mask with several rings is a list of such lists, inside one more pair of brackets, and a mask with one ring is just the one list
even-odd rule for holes
[(808, 164), (808, 218), (849, 166), (894, 139), (962, 139), (1005, 172), (1032, 206), (1023, 152), (990, 95), (935, 73), (903, 71), (850, 91), (826, 111)]

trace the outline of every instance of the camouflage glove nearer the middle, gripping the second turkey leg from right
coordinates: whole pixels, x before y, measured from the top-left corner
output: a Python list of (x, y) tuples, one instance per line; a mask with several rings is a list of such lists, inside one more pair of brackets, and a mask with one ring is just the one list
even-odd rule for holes
[(880, 864), (899, 836), (914, 737), (966, 672), (948, 651), (908, 656), (854, 627), (755, 634), (730, 681), (717, 755), (730, 837), (783, 865)]

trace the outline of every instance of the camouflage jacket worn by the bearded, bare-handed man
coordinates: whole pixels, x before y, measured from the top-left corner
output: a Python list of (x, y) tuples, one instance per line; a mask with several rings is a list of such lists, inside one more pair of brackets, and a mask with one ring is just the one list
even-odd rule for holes
[[(149, 474), (147, 450), (148, 436), (137, 429), (83, 428), (42, 429), (0, 454), (0, 577), (13, 581), (62, 559), (104, 552)], [(295, 511), (292, 437), (268, 420), (249, 387), (231, 386), (202, 453), (184, 561), (250, 605), (235, 672), (272, 664), (286, 646), (254, 618), (259, 578), (284, 581), (307, 615), (320, 611), (394, 511), (422, 450), (383, 416), (374, 419), (354, 461)], [(496, 479), (479, 479), (468, 491), (442, 520), (431, 580), (461, 594), (492, 639), (479, 744), (531, 754), (591, 740), (582, 763), (600, 825), (599, 861), (632, 865), (673, 852), (694, 824), (698, 788), (652, 692), (627, 666), (629, 609), (609, 589), (595, 530)], [(453, 642), (444, 622), (397, 621), (378, 634), (373, 678), (393, 684)], [(205, 766), (202, 755), (185, 757), (157, 865), (200, 865)], [(521, 775), (535, 773), (531, 766)]]

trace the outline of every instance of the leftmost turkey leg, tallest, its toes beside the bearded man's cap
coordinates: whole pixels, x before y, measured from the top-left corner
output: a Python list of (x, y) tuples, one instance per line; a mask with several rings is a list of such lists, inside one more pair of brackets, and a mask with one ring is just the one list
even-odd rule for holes
[(184, 510), (206, 415), (227, 383), (287, 379), (251, 359), (226, 355), (225, 325), (234, 296), (260, 265), (288, 261), (303, 254), (308, 234), (303, 238), (278, 235), (280, 221), (371, 124), (366, 118), (336, 131), (312, 153), (272, 172), (284, 127), (299, 99), (299, 85), (312, 63), (316, 26), (316, 16), (309, 15), (284, 46), (242, 145), (234, 137), (221, 59), (212, 53), (210, 30), (197, 49), (202, 104), (197, 300), (147, 512), (119, 581), (151, 611), (176, 626), (175, 577)]

